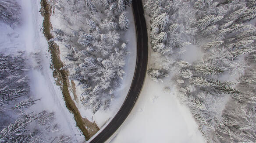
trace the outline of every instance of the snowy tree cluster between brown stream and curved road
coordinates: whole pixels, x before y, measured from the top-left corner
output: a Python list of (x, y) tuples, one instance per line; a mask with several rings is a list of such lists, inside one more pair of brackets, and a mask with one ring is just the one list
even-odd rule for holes
[[(122, 40), (131, 0), (50, 0), (65, 29), (54, 29), (50, 42), (67, 51), (64, 70), (82, 90), (80, 100), (93, 113), (107, 109), (124, 75), (127, 41)], [(70, 28), (71, 27), (71, 28)], [(62, 50), (62, 49), (61, 49)]]

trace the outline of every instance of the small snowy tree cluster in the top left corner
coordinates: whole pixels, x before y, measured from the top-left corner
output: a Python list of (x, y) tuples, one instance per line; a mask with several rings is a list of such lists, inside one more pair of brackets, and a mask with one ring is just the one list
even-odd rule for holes
[(0, 21), (10, 26), (19, 24), (21, 6), (16, 0), (0, 0)]

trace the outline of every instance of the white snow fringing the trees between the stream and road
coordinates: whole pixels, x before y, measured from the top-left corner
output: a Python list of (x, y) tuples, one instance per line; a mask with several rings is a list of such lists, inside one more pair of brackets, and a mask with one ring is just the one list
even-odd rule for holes
[[(76, 95), (78, 100), (75, 100), (73, 93), (70, 92), (72, 99), (75, 101), (75, 104), (83, 118), (87, 118), (89, 121), (95, 121), (98, 127), (101, 129), (104, 125), (107, 125), (109, 121), (116, 115), (117, 111), (120, 109), (121, 105), (126, 98), (128, 91), (130, 89), (132, 78), (135, 71), (135, 62), (136, 62), (136, 33), (135, 33), (135, 23), (133, 18), (132, 7), (127, 7), (127, 16), (130, 21), (129, 28), (125, 31), (124, 35), (121, 35), (122, 38), (128, 40), (127, 51), (130, 53), (126, 56), (125, 59), (125, 67), (124, 67), (124, 76), (121, 80), (120, 87), (114, 89), (115, 98), (113, 102), (110, 103), (110, 108), (105, 111), (100, 109), (95, 114), (92, 113), (92, 110), (85, 109), (80, 101), (80, 95), (82, 93), (81, 89), (76, 87)], [(62, 29), (64, 31), (70, 32), (71, 29), (78, 29), (79, 25), (74, 25), (72, 27), (68, 27), (65, 25), (65, 22), (58, 16), (58, 11), (55, 11), (55, 14), (52, 14), (51, 24), (53, 28)], [(60, 59), (61, 61), (68, 62), (64, 57), (67, 54), (67, 50), (65, 50), (64, 45), (60, 42), (56, 42), (60, 47)], [(75, 81), (74, 81), (75, 82)], [(77, 83), (75, 82), (77, 85)], [(70, 89), (71, 91), (71, 89)]]

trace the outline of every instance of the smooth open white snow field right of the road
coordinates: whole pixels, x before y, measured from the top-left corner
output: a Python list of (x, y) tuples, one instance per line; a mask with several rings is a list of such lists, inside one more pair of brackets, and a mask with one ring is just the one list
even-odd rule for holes
[(111, 143), (205, 143), (175, 88), (166, 93), (165, 86), (146, 77), (139, 99)]

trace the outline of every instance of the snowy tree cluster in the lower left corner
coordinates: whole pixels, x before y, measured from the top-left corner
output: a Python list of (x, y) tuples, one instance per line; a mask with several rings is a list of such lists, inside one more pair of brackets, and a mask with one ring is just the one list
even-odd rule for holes
[[(54, 112), (27, 110), (40, 99), (33, 99), (28, 85), (27, 59), (0, 53), (0, 142), (66, 143), (68, 136), (57, 131)], [(51, 136), (49, 136), (49, 133)], [(64, 141), (66, 142), (64, 142)]]

